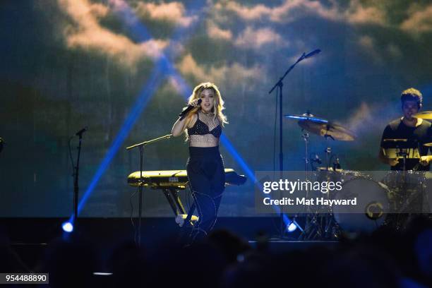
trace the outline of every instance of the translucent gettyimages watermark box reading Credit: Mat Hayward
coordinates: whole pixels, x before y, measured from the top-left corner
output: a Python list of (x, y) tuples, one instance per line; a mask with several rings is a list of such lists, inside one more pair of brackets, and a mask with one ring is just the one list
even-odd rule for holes
[(256, 172), (262, 213), (430, 213), (430, 172)]

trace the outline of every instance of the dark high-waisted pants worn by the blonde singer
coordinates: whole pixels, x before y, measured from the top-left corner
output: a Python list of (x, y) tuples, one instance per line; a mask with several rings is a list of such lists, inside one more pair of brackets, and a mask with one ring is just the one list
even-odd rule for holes
[(186, 170), (199, 217), (191, 232), (191, 240), (194, 241), (206, 236), (216, 223), (225, 188), (224, 164), (219, 147), (189, 147)]

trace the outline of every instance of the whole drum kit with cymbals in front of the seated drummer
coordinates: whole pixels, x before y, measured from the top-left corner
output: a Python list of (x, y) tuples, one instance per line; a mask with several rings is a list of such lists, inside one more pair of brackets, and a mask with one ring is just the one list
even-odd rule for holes
[[(432, 119), (432, 112), (423, 112), (421, 116), (429, 117), (424, 119)], [(316, 181), (335, 181), (335, 179), (342, 181), (342, 190), (327, 193), (328, 198), (343, 199), (347, 198), (344, 193), (357, 193), (362, 199), (357, 205), (364, 208), (364, 213), (342, 212), (338, 206), (329, 207), (326, 213), (305, 211), (306, 225), (302, 229), (300, 239), (338, 239), (342, 235), (373, 232), (382, 225), (404, 229), (407, 215), (412, 211), (407, 208), (407, 203), (412, 203), (412, 199), (407, 200), (407, 198), (419, 198), (426, 189), (424, 172), (402, 169), (402, 171), (383, 172), (380, 174), (383, 176), (382, 179), (377, 179), (376, 175), (372, 176), (368, 172), (341, 169), (337, 157), (332, 162), (330, 140), (353, 141), (356, 135), (352, 131), (340, 124), (316, 117), (310, 112), (287, 114), (284, 117), (298, 121), (304, 132), (301, 137), (305, 143), (306, 179), (308, 179), (308, 164), (311, 164)], [(313, 167), (313, 162), (317, 160), (308, 157), (309, 133), (321, 136), (327, 141), (325, 167)], [(403, 167), (407, 160), (420, 157), (419, 143), (415, 143), (414, 147), (407, 139), (385, 139), (385, 144), (385, 156), (402, 160)], [(426, 143), (424, 146), (432, 147), (432, 143)], [(404, 216), (400, 217), (400, 215)], [(294, 216), (294, 220), (297, 216)]]

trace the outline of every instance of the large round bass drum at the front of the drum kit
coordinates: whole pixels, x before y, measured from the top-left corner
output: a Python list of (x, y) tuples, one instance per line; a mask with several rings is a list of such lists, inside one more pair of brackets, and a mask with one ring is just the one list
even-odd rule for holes
[(335, 206), (333, 215), (343, 233), (370, 233), (380, 227), (390, 209), (390, 190), (380, 182), (368, 178), (346, 181), (342, 190), (335, 193), (335, 199), (357, 198), (356, 211)]

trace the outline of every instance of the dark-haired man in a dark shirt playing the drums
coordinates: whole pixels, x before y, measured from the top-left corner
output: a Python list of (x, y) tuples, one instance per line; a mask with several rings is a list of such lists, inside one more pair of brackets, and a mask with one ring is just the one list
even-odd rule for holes
[[(419, 157), (407, 157), (405, 162), (405, 170), (420, 170), (428, 171), (432, 160), (432, 155), (428, 155), (428, 147), (424, 146), (424, 143), (432, 142), (432, 128), (431, 123), (424, 121), (421, 118), (416, 118), (415, 114), (419, 112), (423, 104), (423, 96), (419, 90), (409, 88), (402, 91), (400, 96), (402, 102), (402, 114), (400, 119), (391, 121), (383, 131), (383, 137), (381, 138), (379, 159), (381, 162), (390, 165), (391, 170), (403, 170), (403, 160), (394, 156), (391, 157), (387, 153), (386, 149), (389, 145), (392, 145), (392, 141), (385, 141), (385, 139), (403, 139), (405, 145), (404, 148), (412, 148), (412, 150), (418, 149)], [(406, 139), (406, 140), (405, 140)], [(412, 146), (410, 146), (412, 145)], [(400, 146), (402, 148), (402, 146)]]

